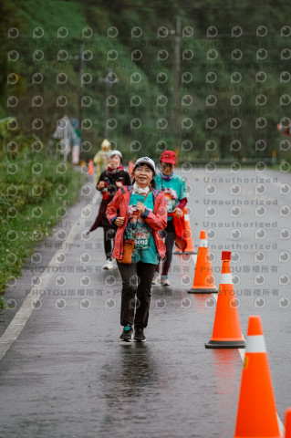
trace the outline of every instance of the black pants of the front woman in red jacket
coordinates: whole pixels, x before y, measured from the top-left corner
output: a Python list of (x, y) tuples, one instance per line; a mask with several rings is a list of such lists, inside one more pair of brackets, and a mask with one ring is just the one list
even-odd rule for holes
[(117, 264), (122, 277), (120, 324), (147, 327), (151, 304), (151, 281), (156, 265), (142, 262), (130, 265), (123, 265), (120, 262)]

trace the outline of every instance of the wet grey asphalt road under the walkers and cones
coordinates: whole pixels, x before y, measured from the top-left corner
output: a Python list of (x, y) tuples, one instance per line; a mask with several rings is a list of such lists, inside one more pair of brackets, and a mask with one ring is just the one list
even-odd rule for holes
[[(262, 318), (282, 419), (291, 406), (290, 176), (184, 171), (195, 248), (206, 229), (217, 287), (221, 252), (232, 251), (244, 335), (249, 315)], [(5, 295), (1, 334), (31, 288), (37, 292), (26, 327), (0, 361), (0, 436), (233, 436), (243, 362), (236, 349), (204, 348), (215, 301), (187, 293), (192, 257), (174, 255), (171, 287), (152, 288), (147, 342), (119, 341), (120, 275), (101, 269), (102, 230), (85, 234), (98, 211), (88, 205), (93, 181)]]

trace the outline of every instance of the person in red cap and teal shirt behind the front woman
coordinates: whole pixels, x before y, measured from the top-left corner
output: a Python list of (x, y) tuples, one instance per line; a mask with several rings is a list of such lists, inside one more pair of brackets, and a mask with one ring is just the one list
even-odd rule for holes
[(159, 274), (159, 265), (157, 266), (152, 283), (161, 286), (170, 286), (168, 271), (171, 266), (172, 247), (176, 238), (176, 232), (173, 224), (173, 215), (182, 217), (182, 210), (187, 203), (187, 192), (185, 182), (181, 176), (174, 174), (174, 166), (177, 157), (174, 151), (163, 151), (160, 157), (161, 172), (154, 178), (157, 190), (161, 190), (167, 202), (168, 220), (167, 227), (161, 232), (165, 238), (166, 256), (162, 265), (161, 276)]

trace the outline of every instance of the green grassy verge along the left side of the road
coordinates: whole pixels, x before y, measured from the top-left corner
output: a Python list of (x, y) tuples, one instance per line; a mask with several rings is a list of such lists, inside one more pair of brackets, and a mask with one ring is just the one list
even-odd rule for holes
[(32, 151), (29, 142), (18, 136), (22, 147), (14, 153), (0, 142), (0, 296), (16, 283), (37, 244), (66, 217), (86, 179), (72, 164)]

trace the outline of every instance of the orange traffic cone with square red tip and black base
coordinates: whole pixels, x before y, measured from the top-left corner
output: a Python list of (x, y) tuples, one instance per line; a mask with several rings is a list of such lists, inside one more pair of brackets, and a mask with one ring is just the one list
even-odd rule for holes
[(222, 254), (222, 277), (218, 289), (213, 337), (205, 344), (206, 349), (244, 349), (245, 346), (232, 283), (231, 254), (229, 251), (223, 251)]

